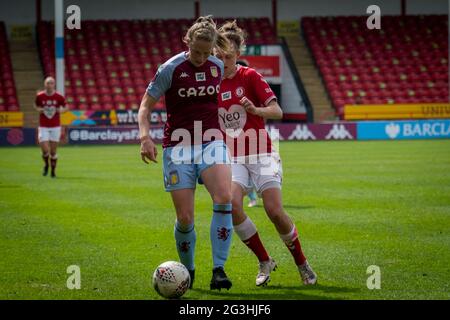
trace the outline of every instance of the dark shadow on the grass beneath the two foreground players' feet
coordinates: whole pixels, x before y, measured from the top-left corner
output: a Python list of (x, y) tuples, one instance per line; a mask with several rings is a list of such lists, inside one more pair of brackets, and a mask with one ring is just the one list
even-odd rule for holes
[[(330, 297), (320, 295), (321, 293), (349, 293), (358, 292), (357, 289), (351, 289), (346, 287), (334, 287), (317, 284), (315, 286), (267, 286), (260, 288), (259, 292), (245, 293), (245, 292), (233, 292), (230, 291), (211, 291), (205, 289), (192, 289), (193, 292), (201, 293), (214, 297), (222, 297), (229, 299), (260, 299), (260, 300), (342, 300), (342, 298)], [(316, 292), (319, 295), (312, 294)], [(186, 298), (192, 300), (201, 300), (201, 298)], [(207, 299), (207, 298), (206, 298)]]

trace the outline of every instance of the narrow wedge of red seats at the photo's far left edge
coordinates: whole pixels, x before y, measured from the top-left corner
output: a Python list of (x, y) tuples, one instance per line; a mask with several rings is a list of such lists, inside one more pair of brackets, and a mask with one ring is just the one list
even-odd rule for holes
[(5, 24), (0, 22), (0, 111), (19, 111)]

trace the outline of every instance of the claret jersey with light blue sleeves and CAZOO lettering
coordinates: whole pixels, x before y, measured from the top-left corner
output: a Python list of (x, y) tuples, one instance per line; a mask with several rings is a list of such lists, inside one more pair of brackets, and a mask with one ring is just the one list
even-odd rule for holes
[(202, 66), (196, 67), (186, 52), (161, 65), (148, 85), (147, 94), (155, 99), (166, 97), (164, 148), (179, 142), (171, 141), (175, 129), (186, 129), (193, 137), (194, 121), (201, 121), (202, 136), (208, 129), (220, 129), (217, 103), (223, 72), (223, 62), (216, 57), (210, 56)]

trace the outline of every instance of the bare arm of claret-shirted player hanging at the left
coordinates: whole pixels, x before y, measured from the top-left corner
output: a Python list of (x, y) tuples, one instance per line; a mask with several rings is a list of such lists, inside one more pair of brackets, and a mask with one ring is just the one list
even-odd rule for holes
[(158, 150), (156, 149), (155, 143), (149, 136), (149, 116), (150, 112), (157, 102), (158, 100), (156, 100), (146, 92), (142, 97), (138, 112), (139, 139), (141, 140), (141, 158), (145, 163), (149, 163), (147, 159), (155, 163), (157, 162), (156, 156), (158, 155)]

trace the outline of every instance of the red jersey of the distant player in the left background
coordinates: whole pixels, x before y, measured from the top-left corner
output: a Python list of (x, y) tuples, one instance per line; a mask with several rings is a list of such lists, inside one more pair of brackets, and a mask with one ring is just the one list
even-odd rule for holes
[(37, 94), (35, 100), (36, 106), (44, 108), (44, 112), (39, 115), (39, 126), (44, 128), (54, 128), (61, 125), (60, 113), (58, 109), (66, 105), (66, 99), (55, 92), (47, 95), (45, 91)]

